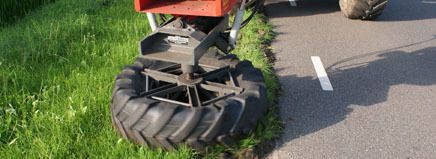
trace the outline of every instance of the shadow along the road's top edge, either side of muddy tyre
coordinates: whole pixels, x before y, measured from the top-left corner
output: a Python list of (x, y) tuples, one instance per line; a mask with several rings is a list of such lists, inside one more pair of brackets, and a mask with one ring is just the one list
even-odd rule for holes
[[(299, 0), (291, 7), (287, 0), (267, 0), (266, 7), (273, 8), (267, 15), (276, 17), (301, 17), (339, 12), (339, 0)], [(377, 21), (413, 21), (436, 18), (436, 0), (390, 0)]]

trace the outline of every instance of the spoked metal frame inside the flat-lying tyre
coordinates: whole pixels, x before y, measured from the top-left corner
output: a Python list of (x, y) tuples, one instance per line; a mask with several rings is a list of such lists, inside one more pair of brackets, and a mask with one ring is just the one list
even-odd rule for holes
[[(208, 72), (198, 74), (192, 80), (186, 80), (183, 75), (172, 74), (174, 70), (180, 70), (181, 65), (174, 64), (165, 68), (158, 70), (144, 69), (142, 74), (146, 77), (146, 90), (141, 93), (141, 96), (147, 96), (155, 100), (164, 101), (168, 103), (198, 107), (209, 105), (218, 100), (240, 94), (243, 88), (237, 87), (234, 83), (234, 79), (230, 73), (230, 67), (225, 66), (221, 68), (209, 68)], [(228, 76), (231, 85), (225, 85), (212, 80), (217, 78), (222, 78)], [(150, 81), (149, 78), (153, 78), (159, 82), (166, 82), (168, 84), (159, 86), (154, 89), (149, 89)], [(208, 100), (201, 100), (199, 90), (208, 91), (210, 96)], [(188, 96), (188, 102), (177, 101), (176, 99), (171, 99), (169, 96), (176, 92), (186, 92)], [(211, 94), (216, 94), (213, 96)]]

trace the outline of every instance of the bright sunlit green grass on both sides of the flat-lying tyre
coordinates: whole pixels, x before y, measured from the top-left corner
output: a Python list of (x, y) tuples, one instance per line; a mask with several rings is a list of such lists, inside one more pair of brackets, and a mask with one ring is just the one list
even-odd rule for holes
[[(193, 158), (123, 140), (110, 124), (114, 77), (150, 30), (130, 0), (58, 0), (0, 28), (0, 158)], [(261, 35), (261, 36), (259, 36)], [(260, 37), (260, 38), (259, 38)], [(261, 68), (274, 103), (278, 82), (264, 56), (272, 28), (257, 15), (235, 53)], [(274, 108), (274, 107), (272, 107)], [(234, 148), (240, 154), (280, 132), (274, 109)]]

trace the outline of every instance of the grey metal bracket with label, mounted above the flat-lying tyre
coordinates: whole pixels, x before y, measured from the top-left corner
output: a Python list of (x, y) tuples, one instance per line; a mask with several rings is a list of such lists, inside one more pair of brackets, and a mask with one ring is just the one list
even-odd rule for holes
[[(149, 20), (153, 21), (153, 18), (150, 16)], [(227, 26), (228, 16), (222, 17), (205, 33), (188, 25), (181, 17), (172, 18), (140, 42), (140, 53), (148, 59), (179, 63), (183, 71), (190, 74), (195, 72), (200, 57), (217, 43), (219, 34)]]

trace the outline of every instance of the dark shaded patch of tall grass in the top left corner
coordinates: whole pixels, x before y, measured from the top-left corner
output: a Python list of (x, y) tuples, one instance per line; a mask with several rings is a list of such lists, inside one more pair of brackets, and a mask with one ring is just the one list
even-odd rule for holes
[(16, 21), (31, 10), (55, 0), (1, 0), (0, 26)]

